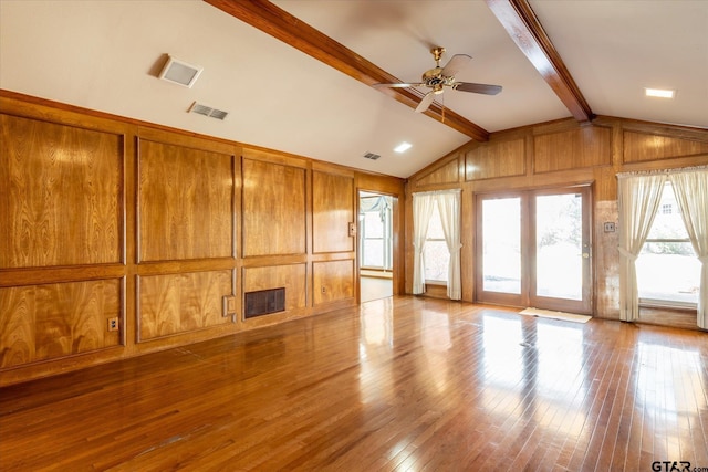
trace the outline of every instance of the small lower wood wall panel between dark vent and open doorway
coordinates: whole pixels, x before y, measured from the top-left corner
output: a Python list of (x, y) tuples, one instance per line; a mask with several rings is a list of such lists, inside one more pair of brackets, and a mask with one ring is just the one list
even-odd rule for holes
[(336, 302), (354, 296), (354, 260), (324, 261), (312, 264), (314, 305)]

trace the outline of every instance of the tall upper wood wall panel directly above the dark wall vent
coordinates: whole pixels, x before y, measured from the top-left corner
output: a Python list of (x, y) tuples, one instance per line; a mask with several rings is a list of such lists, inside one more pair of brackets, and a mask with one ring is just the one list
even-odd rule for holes
[(305, 169), (243, 159), (243, 255), (305, 253)]

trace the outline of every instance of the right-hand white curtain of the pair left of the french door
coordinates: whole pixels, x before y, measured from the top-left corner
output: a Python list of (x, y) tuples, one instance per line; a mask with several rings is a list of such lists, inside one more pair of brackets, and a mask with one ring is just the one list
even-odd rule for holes
[(462, 298), (462, 284), (460, 282), (460, 190), (441, 193), (437, 198), (440, 222), (445, 233), (445, 243), (450, 252), (448, 266), (447, 296), (450, 300)]

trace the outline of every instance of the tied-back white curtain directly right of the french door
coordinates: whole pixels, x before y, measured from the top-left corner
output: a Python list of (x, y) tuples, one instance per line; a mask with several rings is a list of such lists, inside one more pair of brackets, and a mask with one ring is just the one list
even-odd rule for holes
[(665, 174), (618, 177), (620, 318), (639, 317), (636, 260), (652, 229), (666, 182)]

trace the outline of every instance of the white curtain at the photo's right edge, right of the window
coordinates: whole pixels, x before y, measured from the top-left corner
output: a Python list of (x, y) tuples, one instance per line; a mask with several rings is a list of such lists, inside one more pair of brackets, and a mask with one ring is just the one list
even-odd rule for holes
[(669, 180), (701, 263), (697, 322), (708, 329), (708, 168), (670, 174)]

